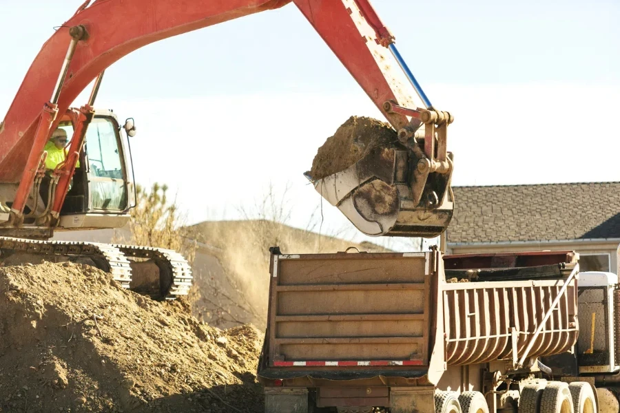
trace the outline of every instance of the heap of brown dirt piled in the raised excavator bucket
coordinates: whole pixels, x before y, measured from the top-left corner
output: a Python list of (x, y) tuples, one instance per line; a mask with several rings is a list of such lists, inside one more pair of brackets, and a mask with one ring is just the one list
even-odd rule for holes
[(344, 171), (375, 147), (388, 145), (397, 138), (389, 123), (364, 116), (351, 116), (318, 149), (312, 161), (310, 176), (321, 179)]

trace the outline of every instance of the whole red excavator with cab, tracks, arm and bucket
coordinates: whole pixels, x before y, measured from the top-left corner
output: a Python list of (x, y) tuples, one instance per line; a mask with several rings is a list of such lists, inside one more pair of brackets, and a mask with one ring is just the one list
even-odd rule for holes
[[(287, 3), (307, 17), (397, 131), (395, 142), (348, 169), (308, 178), (363, 233), (442, 233), (453, 213), (453, 162), (446, 151), (453, 118), (431, 105), (369, 0), (86, 0), (43, 45), (0, 123), (3, 257), (27, 252), (89, 259), (126, 288), (132, 260), (152, 260), (162, 297), (187, 294), (191, 271), (174, 251), (48, 241), (56, 230), (121, 227), (135, 206), (130, 137), (136, 128), (131, 118), (121, 125), (112, 112), (93, 108), (103, 73), (149, 43)], [(411, 87), (400, 81), (394, 61)], [(70, 107), (91, 83), (87, 102)], [(67, 156), (49, 170), (44, 149), (59, 127), (70, 137)]]

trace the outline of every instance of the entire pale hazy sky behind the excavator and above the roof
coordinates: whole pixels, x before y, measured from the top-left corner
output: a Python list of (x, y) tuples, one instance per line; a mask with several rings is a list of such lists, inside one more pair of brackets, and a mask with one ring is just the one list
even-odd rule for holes
[[(0, 0), (0, 114), (81, 2)], [(455, 115), (454, 184), (620, 180), (617, 0), (374, 6), (435, 107)], [(317, 147), (351, 115), (380, 117), (293, 5), (126, 56), (97, 106), (136, 119), (136, 180), (169, 184), (190, 221), (238, 218), (271, 182), (290, 184), (291, 224), (302, 227), (320, 207), (302, 176)], [(323, 215), (323, 232), (362, 238), (329, 204)]]

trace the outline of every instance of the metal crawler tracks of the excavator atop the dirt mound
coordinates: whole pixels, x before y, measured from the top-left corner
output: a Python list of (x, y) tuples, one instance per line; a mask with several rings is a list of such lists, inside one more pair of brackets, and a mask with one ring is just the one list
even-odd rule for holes
[(101, 244), (98, 242), (42, 241), (0, 237), (3, 253), (20, 252), (40, 255), (87, 257), (99, 268), (112, 274), (123, 288), (132, 282), (132, 267), (127, 257), (153, 260), (160, 268), (161, 297), (167, 300), (187, 295), (192, 286), (192, 268), (183, 255), (164, 248)]

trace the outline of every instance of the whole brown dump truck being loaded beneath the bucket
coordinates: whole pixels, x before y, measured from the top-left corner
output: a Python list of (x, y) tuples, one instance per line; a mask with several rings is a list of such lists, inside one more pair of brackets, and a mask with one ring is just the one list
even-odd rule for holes
[(617, 275), (572, 251), (271, 248), (265, 412), (618, 412)]

